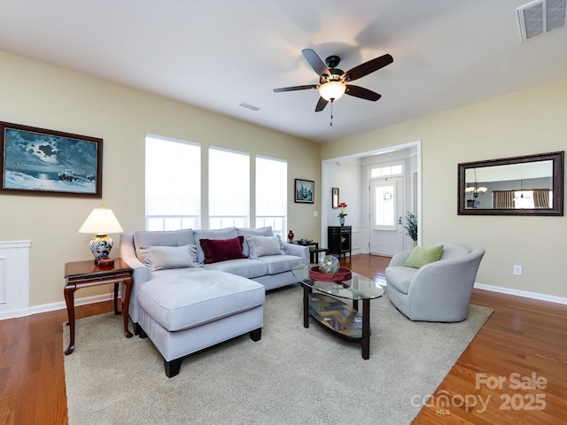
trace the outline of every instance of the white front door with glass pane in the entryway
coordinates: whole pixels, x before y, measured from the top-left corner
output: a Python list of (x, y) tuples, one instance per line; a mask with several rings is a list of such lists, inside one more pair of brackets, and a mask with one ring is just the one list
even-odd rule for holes
[(403, 179), (370, 180), (370, 253), (392, 256), (403, 250)]

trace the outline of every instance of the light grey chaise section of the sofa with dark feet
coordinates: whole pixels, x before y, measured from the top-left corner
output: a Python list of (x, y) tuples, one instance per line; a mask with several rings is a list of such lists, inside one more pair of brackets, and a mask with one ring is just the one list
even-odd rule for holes
[(163, 274), (139, 286), (141, 336), (164, 358), (166, 375), (184, 356), (250, 332), (259, 341), (266, 290), (258, 282), (203, 268)]

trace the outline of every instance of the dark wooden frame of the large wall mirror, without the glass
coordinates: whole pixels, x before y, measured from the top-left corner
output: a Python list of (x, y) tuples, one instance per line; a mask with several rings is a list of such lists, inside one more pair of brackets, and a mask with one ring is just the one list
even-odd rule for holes
[[(465, 208), (466, 196), (464, 189), (467, 187), (465, 172), (470, 168), (481, 168), (485, 166), (504, 166), (509, 164), (523, 164), (535, 161), (551, 160), (553, 164), (553, 207), (552, 208), (526, 208), (526, 209), (489, 209), (489, 208)], [(563, 161), (564, 151), (540, 153), (536, 155), (525, 155), (523, 157), (489, 159), (485, 161), (465, 162), (458, 165), (458, 214), (459, 215), (555, 215), (563, 216)]]

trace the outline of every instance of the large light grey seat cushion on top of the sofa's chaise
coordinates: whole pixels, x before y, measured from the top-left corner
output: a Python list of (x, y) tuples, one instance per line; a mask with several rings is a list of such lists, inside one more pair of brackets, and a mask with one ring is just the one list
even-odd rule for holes
[[(139, 286), (140, 306), (169, 331), (192, 328), (262, 305), (258, 282), (203, 268), (155, 272)], [(160, 276), (159, 274), (163, 274)]]

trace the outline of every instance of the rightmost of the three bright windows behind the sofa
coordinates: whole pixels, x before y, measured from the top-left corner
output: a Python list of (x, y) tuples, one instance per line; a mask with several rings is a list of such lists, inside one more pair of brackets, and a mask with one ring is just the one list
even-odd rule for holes
[(285, 240), (287, 162), (256, 157), (256, 227), (271, 226)]

